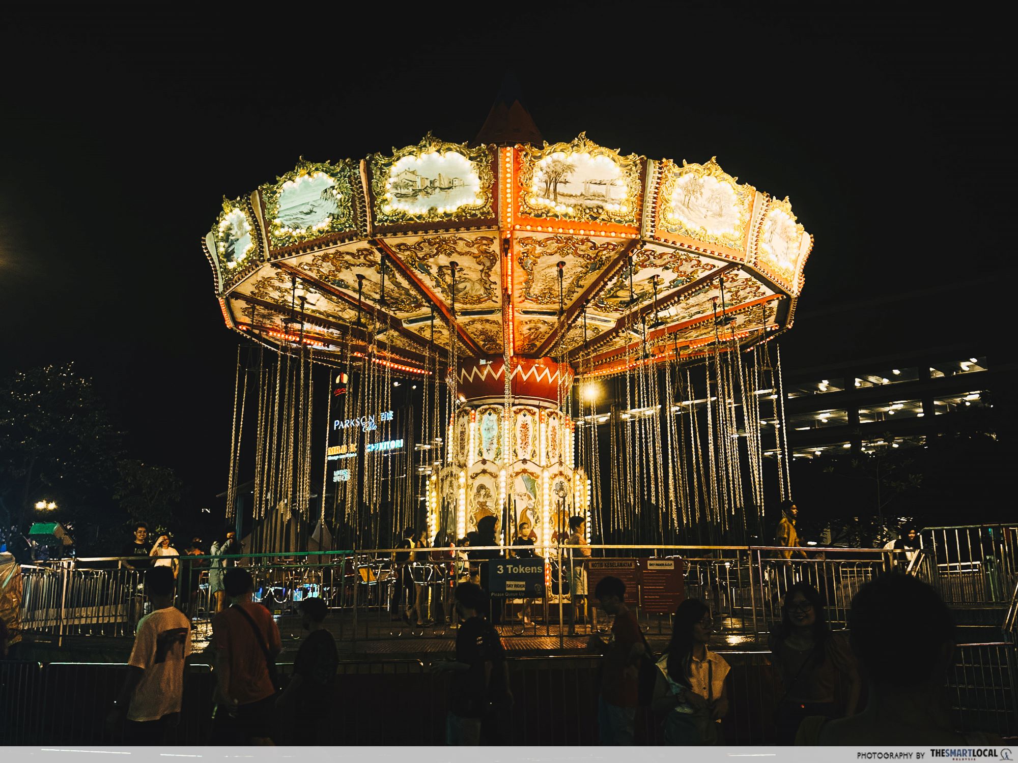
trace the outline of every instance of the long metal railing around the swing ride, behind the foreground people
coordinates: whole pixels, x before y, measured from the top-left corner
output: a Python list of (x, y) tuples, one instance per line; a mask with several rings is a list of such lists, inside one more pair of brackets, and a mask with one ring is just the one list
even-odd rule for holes
[[(719, 630), (729, 644), (767, 634), (780, 620), (780, 600), (790, 585), (805, 580), (825, 592), (830, 618), (844, 625), (852, 595), (866, 580), (893, 564), (893, 553), (872, 549), (809, 549), (810, 557), (786, 560), (781, 548), (743, 546), (591, 546), (597, 554), (580, 557), (575, 547), (547, 550), (545, 595), (492, 601), (492, 619), (504, 637), (557, 637), (560, 645), (575, 633), (605, 630), (592, 606), (592, 582), (586, 568), (613, 560), (628, 561), (634, 574), (638, 559), (674, 560), (681, 581), (671, 593), (703, 599), (716, 612)], [(471, 551), (512, 553), (512, 546)], [(244, 562), (254, 578), (254, 599), (270, 610), (295, 611), (309, 596), (325, 599), (341, 641), (401, 637), (450, 638), (455, 626), (452, 592), (458, 582), (479, 581), (478, 560), (451, 556), (445, 548), (415, 551), (416, 559), (397, 562), (406, 549), (367, 549), (293, 555), (252, 554), (228, 557)], [(575, 555), (574, 555), (575, 554)], [(224, 557), (211, 557), (222, 564)], [(210, 593), (209, 557), (184, 556), (178, 574), (178, 603), (196, 621), (215, 610)], [(136, 561), (135, 561), (136, 564)], [(50, 567), (24, 567), (22, 623), (29, 633), (128, 636), (146, 611), (142, 571), (119, 567), (114, 559), (71, 560)], [(592, 580), (592, 578), (591, 578)], [(651, 592), (630, 580), (627, 600), (639, 612), (651, 635), (670, 633), (668, 610), (651, 605)], [(640, 579), (642, 580), (642, 579)], [(582, 581), (582, 582), (581, 582)], [(583, 585), (581, 596), (572, 588)], [(659, 596), (661, 591), (654, 595)]]

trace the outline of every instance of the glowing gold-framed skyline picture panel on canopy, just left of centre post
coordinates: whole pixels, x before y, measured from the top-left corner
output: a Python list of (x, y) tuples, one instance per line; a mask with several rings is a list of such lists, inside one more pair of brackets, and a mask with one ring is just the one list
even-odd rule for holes
[[(495, 175), (487, 145), (468, 149), (466, 143), (449, 143), (429, 132), (416, 145), (392, 151), (392, 156), (374, 154), (369, 159), (375, 220), (379, 224), (443, 223), (495, 216)], [(413, 159), (419, 165), (430, 156), (444, 161), (448, 155), (462, 158), (450, 162), (448, 174), (418, 171), (401, 164)], [(434, 207), (421, 206), (432, 199), (436, 201)]]

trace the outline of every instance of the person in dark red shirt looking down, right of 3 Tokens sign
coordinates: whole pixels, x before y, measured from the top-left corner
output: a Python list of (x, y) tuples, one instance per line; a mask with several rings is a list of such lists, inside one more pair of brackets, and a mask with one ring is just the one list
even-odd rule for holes
[(602, 745), (631, 745), (639, 704), (639, 660), (646, 650), (635, 613), (625, 604), (626, 584), (611, 576), (593, 590), (598, 606), (615, 615), (608, 642), (597, 634), (591, 648), (605, 657), (598, 697), (598, 729)]

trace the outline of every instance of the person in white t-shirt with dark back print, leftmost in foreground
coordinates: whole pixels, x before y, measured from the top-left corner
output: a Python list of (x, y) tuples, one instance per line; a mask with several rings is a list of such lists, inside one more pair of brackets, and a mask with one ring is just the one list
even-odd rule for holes
[(111, 728), (124, 719), (125, 742), (172, 742), (180, 717), (184, 667), (191, 651), (190, 622), (173, 606), (173, 571), (156, 567), (145, 576), (152, 612), (142, 618), (127, 660), (127, 681), (107, 716)]

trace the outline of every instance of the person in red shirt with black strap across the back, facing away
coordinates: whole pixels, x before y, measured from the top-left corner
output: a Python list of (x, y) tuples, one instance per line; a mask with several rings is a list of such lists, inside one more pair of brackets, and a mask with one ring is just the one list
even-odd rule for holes
[(254, 581), (241, 567), (226, 571), (224, 586), (231, 605), (212, 621), (216, 647), (216, 703), (241, 744), (272, 745), (275, 717), (276, 657), (282, 640), (272, 614), (251, 601)]

